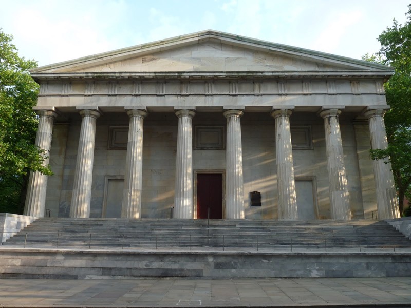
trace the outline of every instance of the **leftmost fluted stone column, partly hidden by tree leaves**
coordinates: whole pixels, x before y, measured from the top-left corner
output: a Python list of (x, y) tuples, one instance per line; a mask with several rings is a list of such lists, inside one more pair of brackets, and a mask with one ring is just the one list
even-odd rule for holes
[[(37, 128), (35, 145), (45, 150), (43, 165), (46, 166), (49, 163), (53, 121), (57, 117), (57, 113), (55, 113), (54, 108), (52, 108), (50, 110), (38, 110), (37, 114), (39, 114), (39, 126)], [(38, 171), (30, 171), (24, 215), (44, 217), (46, 189), (47, 176), (42, 175)]]

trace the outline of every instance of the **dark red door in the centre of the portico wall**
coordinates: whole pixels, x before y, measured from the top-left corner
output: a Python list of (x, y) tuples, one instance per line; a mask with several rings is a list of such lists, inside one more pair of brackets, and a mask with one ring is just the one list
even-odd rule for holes
[(197, 174), (197, 218), (222, 218), (222, 174)]

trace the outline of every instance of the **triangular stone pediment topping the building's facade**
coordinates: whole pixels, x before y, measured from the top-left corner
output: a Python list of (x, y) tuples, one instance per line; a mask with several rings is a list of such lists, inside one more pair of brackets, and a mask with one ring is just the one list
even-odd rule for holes
[(32, 73), (390, 72), (361, 60), (203, 31), (43, 66)]

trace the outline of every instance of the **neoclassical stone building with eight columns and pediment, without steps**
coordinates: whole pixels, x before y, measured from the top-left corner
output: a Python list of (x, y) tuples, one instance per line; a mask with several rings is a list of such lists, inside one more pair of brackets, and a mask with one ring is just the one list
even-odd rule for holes
[(203, 31), (36, 68), (25, 214), (399, 217), (387, 144), (391, 67)]

